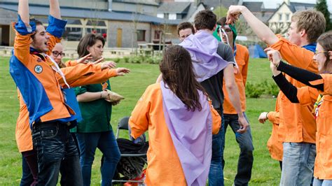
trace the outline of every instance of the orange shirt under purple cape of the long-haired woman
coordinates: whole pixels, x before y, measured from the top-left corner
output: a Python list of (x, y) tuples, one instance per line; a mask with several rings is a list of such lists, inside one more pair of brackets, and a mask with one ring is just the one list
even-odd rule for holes
[[(212, 106), (211, 111), (212, 132), (217, 134), (221, 127), (221, 117)], [(132, 129), (131, 135), (134, 138), (148, 130), (146, 184), (186, 185), (184, 171), (162, 111), (162, 92), (159, 83), (146, 88), (132, 111), (129, 124)]]

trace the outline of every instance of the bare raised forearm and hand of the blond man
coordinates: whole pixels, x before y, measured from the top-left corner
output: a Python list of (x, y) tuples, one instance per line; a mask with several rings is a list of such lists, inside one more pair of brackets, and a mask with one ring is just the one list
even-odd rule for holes
[(273, 31), (261, 22), (261, 20), (258, 20), (258, 18), (245, 6), (230, 6), (227, 13), (228, 24), (233, 24), (240, 14), (243, 15), (244, 19), (248, 22), (249, 27), (251, 27), (261, 41), (268, 45), (277, 43), (278, 38)]

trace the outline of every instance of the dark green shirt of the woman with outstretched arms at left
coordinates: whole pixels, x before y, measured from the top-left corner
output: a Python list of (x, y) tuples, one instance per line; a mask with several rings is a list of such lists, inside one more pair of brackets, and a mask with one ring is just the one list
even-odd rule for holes
[[(111, 90), (109, 80), (106, 81), (107, 89)], [(85, 85), (76, 87), (76, 96), (84, 92), (101, 92), (102, 84)], [(78, 122), (77, 132), (100, 132), (111, 131), (112, 105), (104, 99), (97, 99), (89, 102), (78, 102), (83, 120)]]

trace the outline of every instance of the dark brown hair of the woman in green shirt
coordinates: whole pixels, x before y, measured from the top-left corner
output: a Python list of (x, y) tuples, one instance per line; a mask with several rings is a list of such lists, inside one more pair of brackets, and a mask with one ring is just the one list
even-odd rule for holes
[(88, 55), (90, 52), (88, 51), (88, 46), (93, 46), (97, 42), (97, 40), (102, 41), (102, 47), (105, 45), (105, 39), (100, 34), (86, 34), (81, 38), (80, 43), (77, 45), (77, 53), (78, 57), (84, 57)]

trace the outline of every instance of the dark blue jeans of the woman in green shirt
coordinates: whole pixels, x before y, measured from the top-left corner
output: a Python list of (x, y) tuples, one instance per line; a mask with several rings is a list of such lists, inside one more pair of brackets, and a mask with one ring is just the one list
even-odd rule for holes
[(111, 185), (116, 165), (120, 161), (120, 150), (113, 131), (77, 133), (76, 136), (81, 152), (83, 185), (90, 185), (91, 183), (91, 166), (97, 148), (104, 155), (102, 185)]

